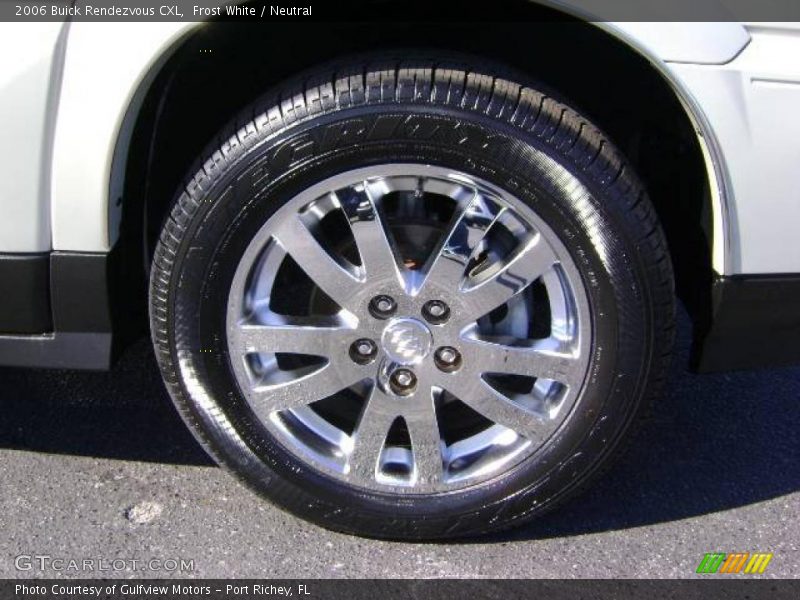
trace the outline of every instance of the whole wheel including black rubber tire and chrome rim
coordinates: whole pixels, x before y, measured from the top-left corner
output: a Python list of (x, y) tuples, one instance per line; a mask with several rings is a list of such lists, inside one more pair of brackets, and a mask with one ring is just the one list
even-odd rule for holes
[[(586, 118), (498, 72), (366, 59), (306, 74), (242, 113), (165, 221), (150, 315), (175, 405), (221, 465), (323, 527), (420, 540), (524, 523), (609, 465), (664, 381), (673, 275), (642, 184)], [(461, 212), (475, 202), (488, 225)], [(394, 263), (364, 241), (381, 231)], [(347, 293), (330, 283), (347, 277)], [(407, 294), (376, 304), (390, 288)], [(301, 340), (312, 318), (339, 337)], [(334, 380), (350, 387), (318, 399)]]

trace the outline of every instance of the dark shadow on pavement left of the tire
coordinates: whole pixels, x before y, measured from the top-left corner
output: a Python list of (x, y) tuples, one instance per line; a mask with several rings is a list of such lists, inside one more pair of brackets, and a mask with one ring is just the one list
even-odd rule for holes
[(139, 340), (109, 373), (0, 369), (0, 448), (211, 465)]

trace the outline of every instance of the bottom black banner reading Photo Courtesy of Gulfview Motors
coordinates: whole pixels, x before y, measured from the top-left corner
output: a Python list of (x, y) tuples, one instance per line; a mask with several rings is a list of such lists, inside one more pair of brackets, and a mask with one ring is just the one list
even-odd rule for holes
[(800, 582), (702, 580), (91, 580), (0, 581), (0, 600), (755, 600), (800, 597)]

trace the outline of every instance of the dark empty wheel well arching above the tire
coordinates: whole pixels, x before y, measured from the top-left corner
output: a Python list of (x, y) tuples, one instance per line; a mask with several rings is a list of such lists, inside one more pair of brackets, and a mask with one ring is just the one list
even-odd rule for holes
[[(209, 23), (198, 28), (164, 63), (135, 118), (118, 242), (129, 265), (136, 264), (129, 272), (141, 277), (146, 289), (152, 250), (176, 190), (242, 107), (293, 74), (339, 55), (424, 47), (508, 65), (557, 90), (603, 128), (644, 180), (667, 236), (678, 296), (702, 325), (710, 311), (712, 212), (691, 120), (663, 76), (636, 51), (594, 25), (534, 4), (530, 11), (529, 21), (488, 26)], [(140, 300), (143, 306), (146, 294)]]

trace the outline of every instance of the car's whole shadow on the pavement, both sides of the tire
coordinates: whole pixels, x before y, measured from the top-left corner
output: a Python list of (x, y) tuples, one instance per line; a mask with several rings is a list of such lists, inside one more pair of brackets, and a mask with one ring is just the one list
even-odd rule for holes
[[(683, 315), (680, 334), (688, 347)], [(679, 352), (665, 395), (611, 472), (495, 539), (636, 527), (800, 490), (800, 368), (700, 376), (686, 364)], [(148, 340), (111, 373), (0, 369), (0, 412), (0, 448), (212, 464), (172, 407)]]

